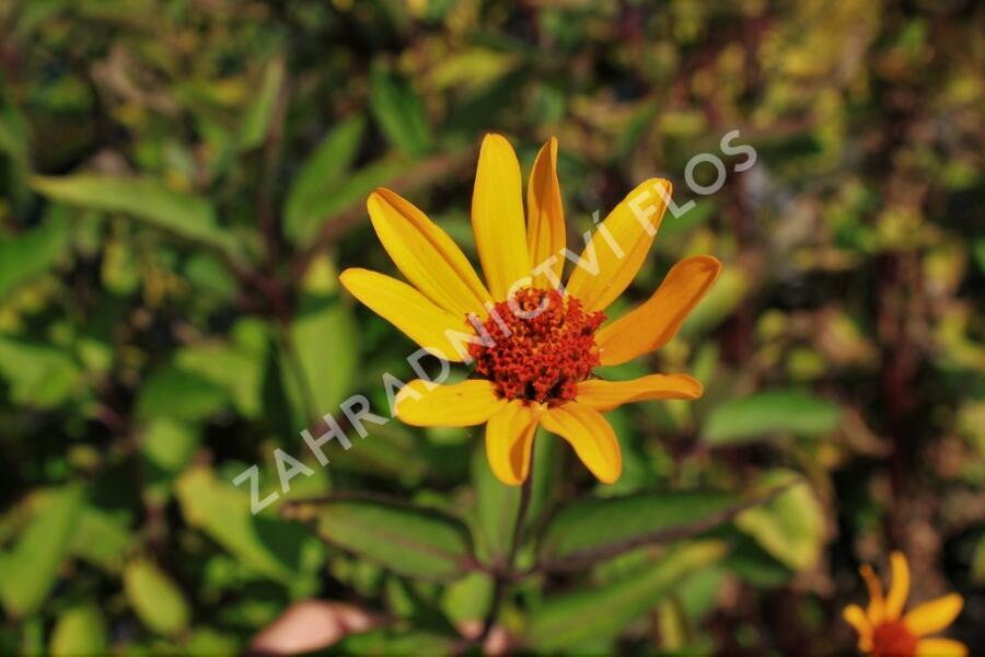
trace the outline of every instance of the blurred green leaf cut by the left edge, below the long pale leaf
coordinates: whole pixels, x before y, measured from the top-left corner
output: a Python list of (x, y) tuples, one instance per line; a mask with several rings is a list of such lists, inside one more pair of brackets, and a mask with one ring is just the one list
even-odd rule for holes
[(34, 230), (0, 237), (0, 300), (11, 290), (50, 269), (69, 244), (68, 223), (49, 219)]

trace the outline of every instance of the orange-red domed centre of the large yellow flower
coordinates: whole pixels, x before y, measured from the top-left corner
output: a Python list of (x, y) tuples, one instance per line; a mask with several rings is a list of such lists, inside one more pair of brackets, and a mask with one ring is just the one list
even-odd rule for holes
[(557, 290), (522, 288), (476, 326), (468, 351), (475, 371), (509, 400), (558, 404), (573, 400), (579, 381), (599, 366), (595, 331), (605, 315)]

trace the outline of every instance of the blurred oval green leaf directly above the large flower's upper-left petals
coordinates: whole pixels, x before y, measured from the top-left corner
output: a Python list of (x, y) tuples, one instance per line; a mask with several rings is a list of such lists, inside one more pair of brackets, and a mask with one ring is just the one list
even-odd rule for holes
[(390, 143), (420, 155), (432, 143), (424, 103), (410, 82), (382, 66), (370, 73), (370, 110)]

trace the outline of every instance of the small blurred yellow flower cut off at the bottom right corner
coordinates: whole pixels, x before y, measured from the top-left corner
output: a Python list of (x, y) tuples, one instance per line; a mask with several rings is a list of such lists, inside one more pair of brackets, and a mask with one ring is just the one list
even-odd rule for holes
[(873, 657), (963, 657), (964, 644), (950, 638), (924, 638), (950, 625), (964, 601), (958, 593), (941, 596), (903, 614), (909, 595), (909, 566), (901, 552), (890, 555), (893, 581), (883, 598), (882, 585), (872, 567), (861, 567), (869, 588), (869, 607), (845, 608), (845, 620), (858, 632), (858, 649)]

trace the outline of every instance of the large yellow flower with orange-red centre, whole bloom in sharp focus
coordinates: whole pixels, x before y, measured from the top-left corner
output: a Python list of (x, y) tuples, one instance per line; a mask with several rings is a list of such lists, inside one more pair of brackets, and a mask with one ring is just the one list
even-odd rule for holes
[(707, 255), (681, 261), (648, 301), (603, 324), (603, 311), (647, 257), (670, 183), (651, 178), (626, 196), (586, 243), (561, 287), (565, 260), (575, 258), (566, 251), (556, 165), (552, 139), (534, 162), (524, 221), (512, 147), (499, 135), (483, 140), (472, 227), (485, 284), (444, 231), (382, 188), (367, 201), (370, 219), (412, 285), (358, 268), (340, 276), (357, 299), (420, 346), (475, 365), (473, 378), (461, 383), (412, 381), (397, 395), (396, 415), (415, 426), (486, 423), (489, 465), (508, 485), (526, 479), (538, 426), (567, 440), (599, 480), (612, 483), (622, 473), (622, 456), (602, 413), (703, 393), (687, 374), (618, 382), (592, 377), (596, 366), (626, 362), (667, 344), (721, 269)]

